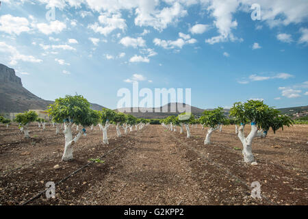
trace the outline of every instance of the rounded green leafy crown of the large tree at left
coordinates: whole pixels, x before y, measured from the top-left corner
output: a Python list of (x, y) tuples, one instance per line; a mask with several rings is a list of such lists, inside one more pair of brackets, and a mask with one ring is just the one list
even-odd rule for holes
[(92, 116), (97, 116), (90, 109), (90, 103), (84, 96), (77, 94), (75, 96), (66, 95), (64, 98), (55, 99), (55, 103), (49, 105), (47, 112), (53, 118), (54, 123), (70, 122), (84, 127), (92, 125), (95, 120)]

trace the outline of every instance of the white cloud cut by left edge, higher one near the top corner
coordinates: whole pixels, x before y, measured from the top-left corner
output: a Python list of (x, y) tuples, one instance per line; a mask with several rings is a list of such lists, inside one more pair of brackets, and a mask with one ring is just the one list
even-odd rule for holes
[(27, 18), (5, 14), (0, 16), (0, 31), (17, 35), (22, 32), (29, 32), (29, 21)]

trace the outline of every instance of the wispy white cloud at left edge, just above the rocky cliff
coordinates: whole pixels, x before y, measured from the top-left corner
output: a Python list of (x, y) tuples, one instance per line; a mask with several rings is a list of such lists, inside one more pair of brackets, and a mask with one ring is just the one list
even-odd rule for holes
[(36, 57), (32, 55), (23, 55), (19, 53), (19, 51), (12, 47), (9, 44), (6, 44), (5, 42), (0, 42), (0, 52), (6, 53), (8, 57), (10, 58), (10, 64), (15, 65), (17, 64), (18, 60), (21, 60), (23, 62), (33, 62), (33, 63), (40, 63), (42, 60), (37, 59)]

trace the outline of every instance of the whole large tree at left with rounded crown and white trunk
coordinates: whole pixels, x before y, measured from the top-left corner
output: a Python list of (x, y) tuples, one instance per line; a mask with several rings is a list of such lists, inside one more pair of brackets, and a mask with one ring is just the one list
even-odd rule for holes
[(89, 127), (99, 117), (90, 109), (90, 103), (84, 99), (84, 96), (77, 94), (75, 96), (66, 95), (64, 98), (55, 99), (55, 103), (49, 105), (47, 112), (49, 112), (54, 123), (64, 123), (65, 145), (62, 161), (72, 160), (73, 145), (82, 134), (86, 135), (86, 129), (84, 128), (73, 138), (73, 124)]

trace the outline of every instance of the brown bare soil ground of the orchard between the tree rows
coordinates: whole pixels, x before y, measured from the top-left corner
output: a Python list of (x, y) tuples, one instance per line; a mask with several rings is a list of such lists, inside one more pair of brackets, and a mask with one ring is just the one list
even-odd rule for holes
[[(0, 204), (23, 204), (47, 181), (57, 183), (108, 152), (104, 164), (90, 164), (56, 185), (55, 198), (42, 194), (28, 205), (308, 204), (308, 125), (255, 139), (257, 166), (242, 161), (234, 126), (215, 131), (210, 145), (203, 144), (206, 129), (190, 130), (192, 138), (186, 138), (179, 129), (150, 125), (116, 138), (111, 127), (104, 145), (96, 127), (75, 145), (73, 162), (61, 162), (64, 135), (55, 135), (55, 127), (33, 125), (32, 138), (25, 139), (18, 127), (0, 126)], [(253, 181), (261, 184), (261, 199), (251, 197)]]

